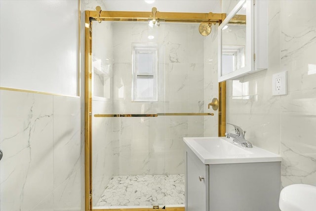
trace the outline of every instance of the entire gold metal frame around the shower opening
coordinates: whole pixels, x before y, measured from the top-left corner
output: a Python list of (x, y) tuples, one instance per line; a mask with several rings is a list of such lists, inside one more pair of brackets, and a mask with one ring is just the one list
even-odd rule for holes
[[(85, 11), (84, 50), (84, 166), (85, 166), (85, 211), (92, 211), (92, 21), (150, 21), (155, 18), (164, 22), (221, 23), (225, 13), (182, 12), (130, 12), (130, 11)], [(154, 10), (153, 10), (154, 11)], [(226, 82), (219, 83), (218, 134), (226, 130)], [(106, 209), (98, 211), (151, 211), (153, 209)], [(156, 210), (156, 209), (155, 209)], [(184, 211), (184, 208), (166, 208), (169, 211)], [(157, 209), (160, 211), (160, 209)]]

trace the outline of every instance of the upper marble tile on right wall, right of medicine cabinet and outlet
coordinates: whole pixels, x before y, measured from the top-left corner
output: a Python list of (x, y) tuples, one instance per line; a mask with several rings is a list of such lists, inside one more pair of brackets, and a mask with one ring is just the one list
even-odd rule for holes
[(288, 91), (315, 88), (315, 7), (315, 1), (281, 2), (281, 70), (288, 71)]

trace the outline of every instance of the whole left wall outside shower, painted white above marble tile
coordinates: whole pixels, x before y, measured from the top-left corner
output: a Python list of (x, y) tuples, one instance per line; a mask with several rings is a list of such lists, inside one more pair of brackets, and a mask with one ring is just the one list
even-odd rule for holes
[(82, 211), (78, 1), (0, 8), (0, 210)]

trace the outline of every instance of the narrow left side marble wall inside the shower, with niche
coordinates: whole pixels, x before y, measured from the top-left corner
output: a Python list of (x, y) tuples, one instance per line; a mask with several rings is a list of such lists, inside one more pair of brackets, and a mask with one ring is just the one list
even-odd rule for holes
[(113, 176), (113, 39), (111, 22), (92, 22), (92, 205), (95, 206)]

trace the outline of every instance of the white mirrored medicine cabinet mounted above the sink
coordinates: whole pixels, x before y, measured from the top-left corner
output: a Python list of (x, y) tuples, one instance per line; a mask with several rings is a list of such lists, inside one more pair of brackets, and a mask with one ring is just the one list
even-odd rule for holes
[(240, 0), (218, 27), (218, 81), (268, 68), (268, 2)]

